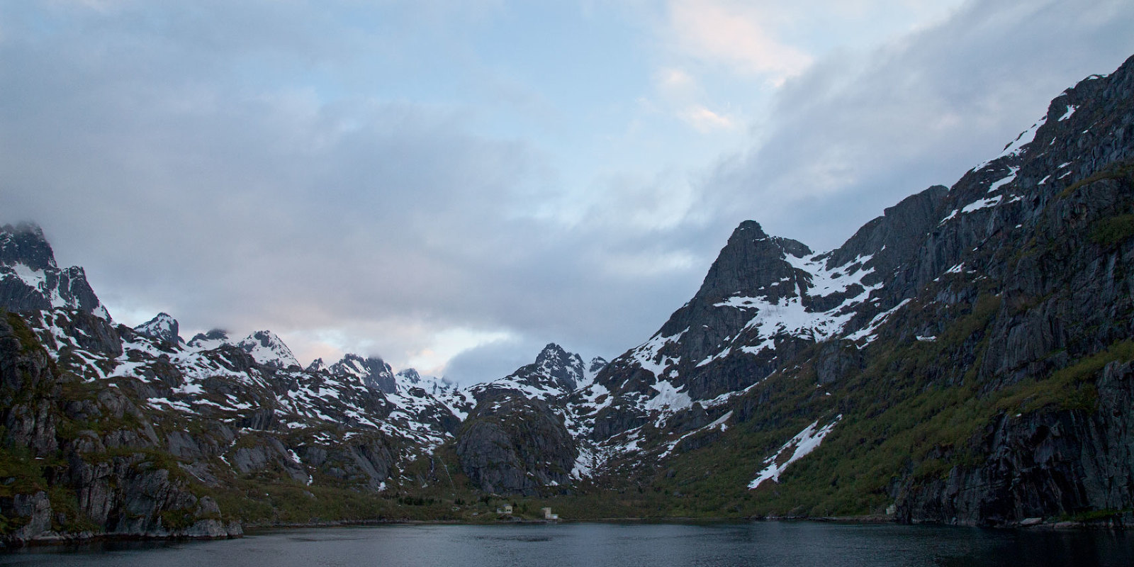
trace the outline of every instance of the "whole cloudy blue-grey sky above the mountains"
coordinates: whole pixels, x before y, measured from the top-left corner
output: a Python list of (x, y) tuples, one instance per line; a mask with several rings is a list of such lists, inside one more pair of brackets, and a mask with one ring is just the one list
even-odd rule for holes
[(1128, 0), (0, 0), (0, 222), (119, 322), (462, 383), (612, 358), (1134, 54)]

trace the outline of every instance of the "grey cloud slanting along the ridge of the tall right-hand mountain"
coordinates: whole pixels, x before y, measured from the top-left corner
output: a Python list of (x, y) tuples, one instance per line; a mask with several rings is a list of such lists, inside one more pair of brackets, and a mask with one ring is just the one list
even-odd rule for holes
[(836, 53), (785, 84), (761, 143), (723, 161), (706, 194), (773, 234), (837, 246), (996, 155), (1061, 90), (1116, 68), (1134, 52), (1132, 24), (1129, 2), (974, 1), (875, 51)]

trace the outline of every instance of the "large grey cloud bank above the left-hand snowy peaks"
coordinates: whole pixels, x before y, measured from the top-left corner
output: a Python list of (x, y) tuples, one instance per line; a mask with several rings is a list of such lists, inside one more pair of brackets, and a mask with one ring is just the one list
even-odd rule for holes
[[(237, 45), (222, 33), (194, 52), (185, 31), (159, 41), (130, 35), (130, 18), (96, 24), (0, 44), (20, 62), (0, 68), (18, 94), (0, 105), (0, 197), (111, 305), (164, 310), (187, 330), (353, 329), (364, 338), (347, 342), (391, 358), (414, 346), (396, 336), (407, 320), (421, 337), (508, 329), (525, 359), (538, 348), (524, 337), (611, 356), (705, 268), (677, 280), (607, 273), (607, 251), (687, 244), (533, 218), (555, 191), (547, 158), (474, 134), (467, 110), (253, 88), (215, 60), (269, 50), (266, 32)], [(277, 65), (262, 73), (294, 70)]]

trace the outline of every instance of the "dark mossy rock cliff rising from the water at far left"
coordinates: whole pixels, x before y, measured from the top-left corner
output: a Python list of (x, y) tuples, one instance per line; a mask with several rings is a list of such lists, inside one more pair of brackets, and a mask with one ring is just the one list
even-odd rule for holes
[[(154, 455), (159, 438), (144, 414), (112, 390), (67, 396), (81, 388), (60, 375), (32, 329), (15, 315), (0, 320), (0, 420), (5, 431), (7, 542), (87, 533), (132, 536), (240, 534), (217, 502), (188, 489), (185, 473)], [(105, 430), (96, 424), (121, 423)], [(32, 460), (20, 457), (29, 451)]]

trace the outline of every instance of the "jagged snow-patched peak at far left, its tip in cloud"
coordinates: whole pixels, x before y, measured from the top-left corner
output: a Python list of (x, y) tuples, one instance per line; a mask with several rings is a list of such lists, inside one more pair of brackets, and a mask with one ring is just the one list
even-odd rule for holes
[(0, 307), (70, 308), (110, 319), (83, 269), (60, 270), (43, 230), (31, 223), (0, 227)]

